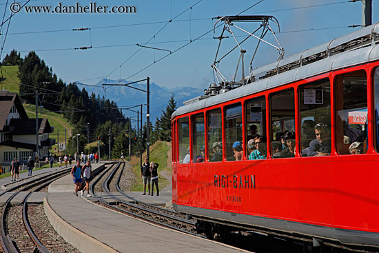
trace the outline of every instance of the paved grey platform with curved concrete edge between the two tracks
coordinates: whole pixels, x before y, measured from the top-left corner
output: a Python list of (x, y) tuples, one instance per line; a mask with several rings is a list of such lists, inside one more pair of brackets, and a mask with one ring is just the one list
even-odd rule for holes
[[(158, 227), (92, 203), (94, 198), (75, 196), (70, 175), (49, 186), (45, 214), (57, 232), (83, 253), (87, 252), (245, 252), (235, 247)], [(171, 190), (160, 196), (129, 192), (139, 201), (170, 202)]]

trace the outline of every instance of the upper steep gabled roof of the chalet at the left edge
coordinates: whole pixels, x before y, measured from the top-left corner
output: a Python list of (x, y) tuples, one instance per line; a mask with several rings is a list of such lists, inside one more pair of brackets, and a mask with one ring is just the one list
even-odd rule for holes
[(20, 117), (28, 119), (28, 115), (23, 108), (19, 95), (15, 92), (0, 91), (0, 131), (2, 131), (6, 125), (6, 121), (13, 104), (16, 105)]

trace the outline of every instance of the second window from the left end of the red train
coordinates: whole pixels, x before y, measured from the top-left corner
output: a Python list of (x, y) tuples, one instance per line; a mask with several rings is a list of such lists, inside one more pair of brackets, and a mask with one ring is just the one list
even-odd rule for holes
[(203, 161), (205, 161), (204, 114), (194, 115), (191, 119), (191, 123), (192, 161), (194, 163), (202, 163)]

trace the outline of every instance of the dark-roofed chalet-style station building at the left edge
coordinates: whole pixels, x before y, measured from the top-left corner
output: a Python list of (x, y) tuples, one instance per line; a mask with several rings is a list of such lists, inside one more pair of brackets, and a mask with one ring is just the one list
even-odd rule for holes
[[(39, 157), (49, 155), (55, 144), (49, 134), (54, 132), (48, 119), (38, 119)], [(37, 150), (36, 119), (29, 119), (17, 93), (0, 91), (0, 163), (9, 165), (15, 158), (26, 163), (29, 156), (35, 161)], [(7, 170), (8, 172), (8, 170)]]

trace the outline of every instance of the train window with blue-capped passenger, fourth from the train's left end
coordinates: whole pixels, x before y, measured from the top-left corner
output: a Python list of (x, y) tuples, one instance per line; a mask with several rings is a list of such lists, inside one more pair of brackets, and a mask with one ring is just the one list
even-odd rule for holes
[(240, 161), (243, 158), (242, 145), (242, 105), (228, 105), (225, 110), (225, 141), (227, 161)]

